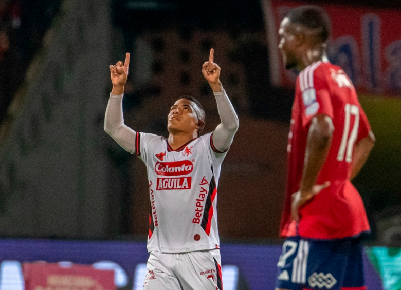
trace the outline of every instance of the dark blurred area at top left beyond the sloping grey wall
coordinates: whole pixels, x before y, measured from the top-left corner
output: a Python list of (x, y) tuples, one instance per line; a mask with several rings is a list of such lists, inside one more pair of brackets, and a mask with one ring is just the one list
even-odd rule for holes
[(0, 124), (60, 0), (0, 0)]

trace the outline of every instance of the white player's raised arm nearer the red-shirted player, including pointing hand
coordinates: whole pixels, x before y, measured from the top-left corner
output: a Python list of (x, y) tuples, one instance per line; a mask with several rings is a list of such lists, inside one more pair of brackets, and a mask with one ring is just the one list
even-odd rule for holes
[(209, 61), (202, 66), (202, 73), (208, 81), (216, 98), (217, 110), (221, 123), (213, 132), (213, 145), (220, 151), (227, 150), (238, 130), (239, 121), (235, 110), (220, 82), (220, 66), (213, 62), (214, 49), (210, 50)]

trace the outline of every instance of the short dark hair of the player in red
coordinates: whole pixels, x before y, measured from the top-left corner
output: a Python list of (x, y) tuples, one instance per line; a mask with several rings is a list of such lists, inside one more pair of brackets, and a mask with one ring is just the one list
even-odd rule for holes
[(286, 16), (291, 23), (305, 26), (309, 29), (320, 29), (317, 34), (321, 42), (326, 42), (331, 34), (330, 17), (323, 8), (316, 5), (303, 5), (292, 9)]

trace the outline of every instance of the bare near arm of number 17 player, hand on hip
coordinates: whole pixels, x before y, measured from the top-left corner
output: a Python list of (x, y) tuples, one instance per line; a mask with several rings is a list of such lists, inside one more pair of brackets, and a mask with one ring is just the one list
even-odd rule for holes
[(330, 186), (330, 182), (316, 185), (319, 172), (326, 161), (332, 143), (334, 126), (332, 119), (324, 114), (317, 114), (309, 127), (305, 158), (299, 191), (293, 194), (291, 217), (299, 221), (299, 207)]

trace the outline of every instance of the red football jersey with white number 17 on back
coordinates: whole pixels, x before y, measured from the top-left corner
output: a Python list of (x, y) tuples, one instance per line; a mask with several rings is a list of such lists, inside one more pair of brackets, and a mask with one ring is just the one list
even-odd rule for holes
[[(333, 120), (332, 145), (317, 183), (331, 185), (300, 209), (291, 221), (291, 195), (299, 190), (311, 119), (321, 113)], [(354, 144), (371, 130), (348, 75), (329, 62), (316, 62), (298, 75), (288, 135), (288, 181), (281, 236), (315, 239), (352, 237), (368, 231), (359, 192), (350, 182)]]

